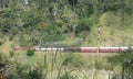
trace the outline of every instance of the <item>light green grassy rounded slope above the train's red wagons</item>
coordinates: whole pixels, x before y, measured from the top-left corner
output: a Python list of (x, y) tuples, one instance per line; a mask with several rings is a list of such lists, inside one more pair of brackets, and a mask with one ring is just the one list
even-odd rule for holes
[[(123, 21), (120, 14), (106, 12), (99, 19), (98, 26), (92, 29), (92, 32), (100, 30), (100, 46), (129, 46), (133, 44), (133, 15), (124, 14)], [(124, 24), (122, 24), (124, 23)], [(94, 35), (94, 34), (92, 34)], [(91, 36), (91, 38), (93, 38)], [(94, 45), (94, 42), (92, 44)], [(95, 44), (96, 45), (96, 44)]]

